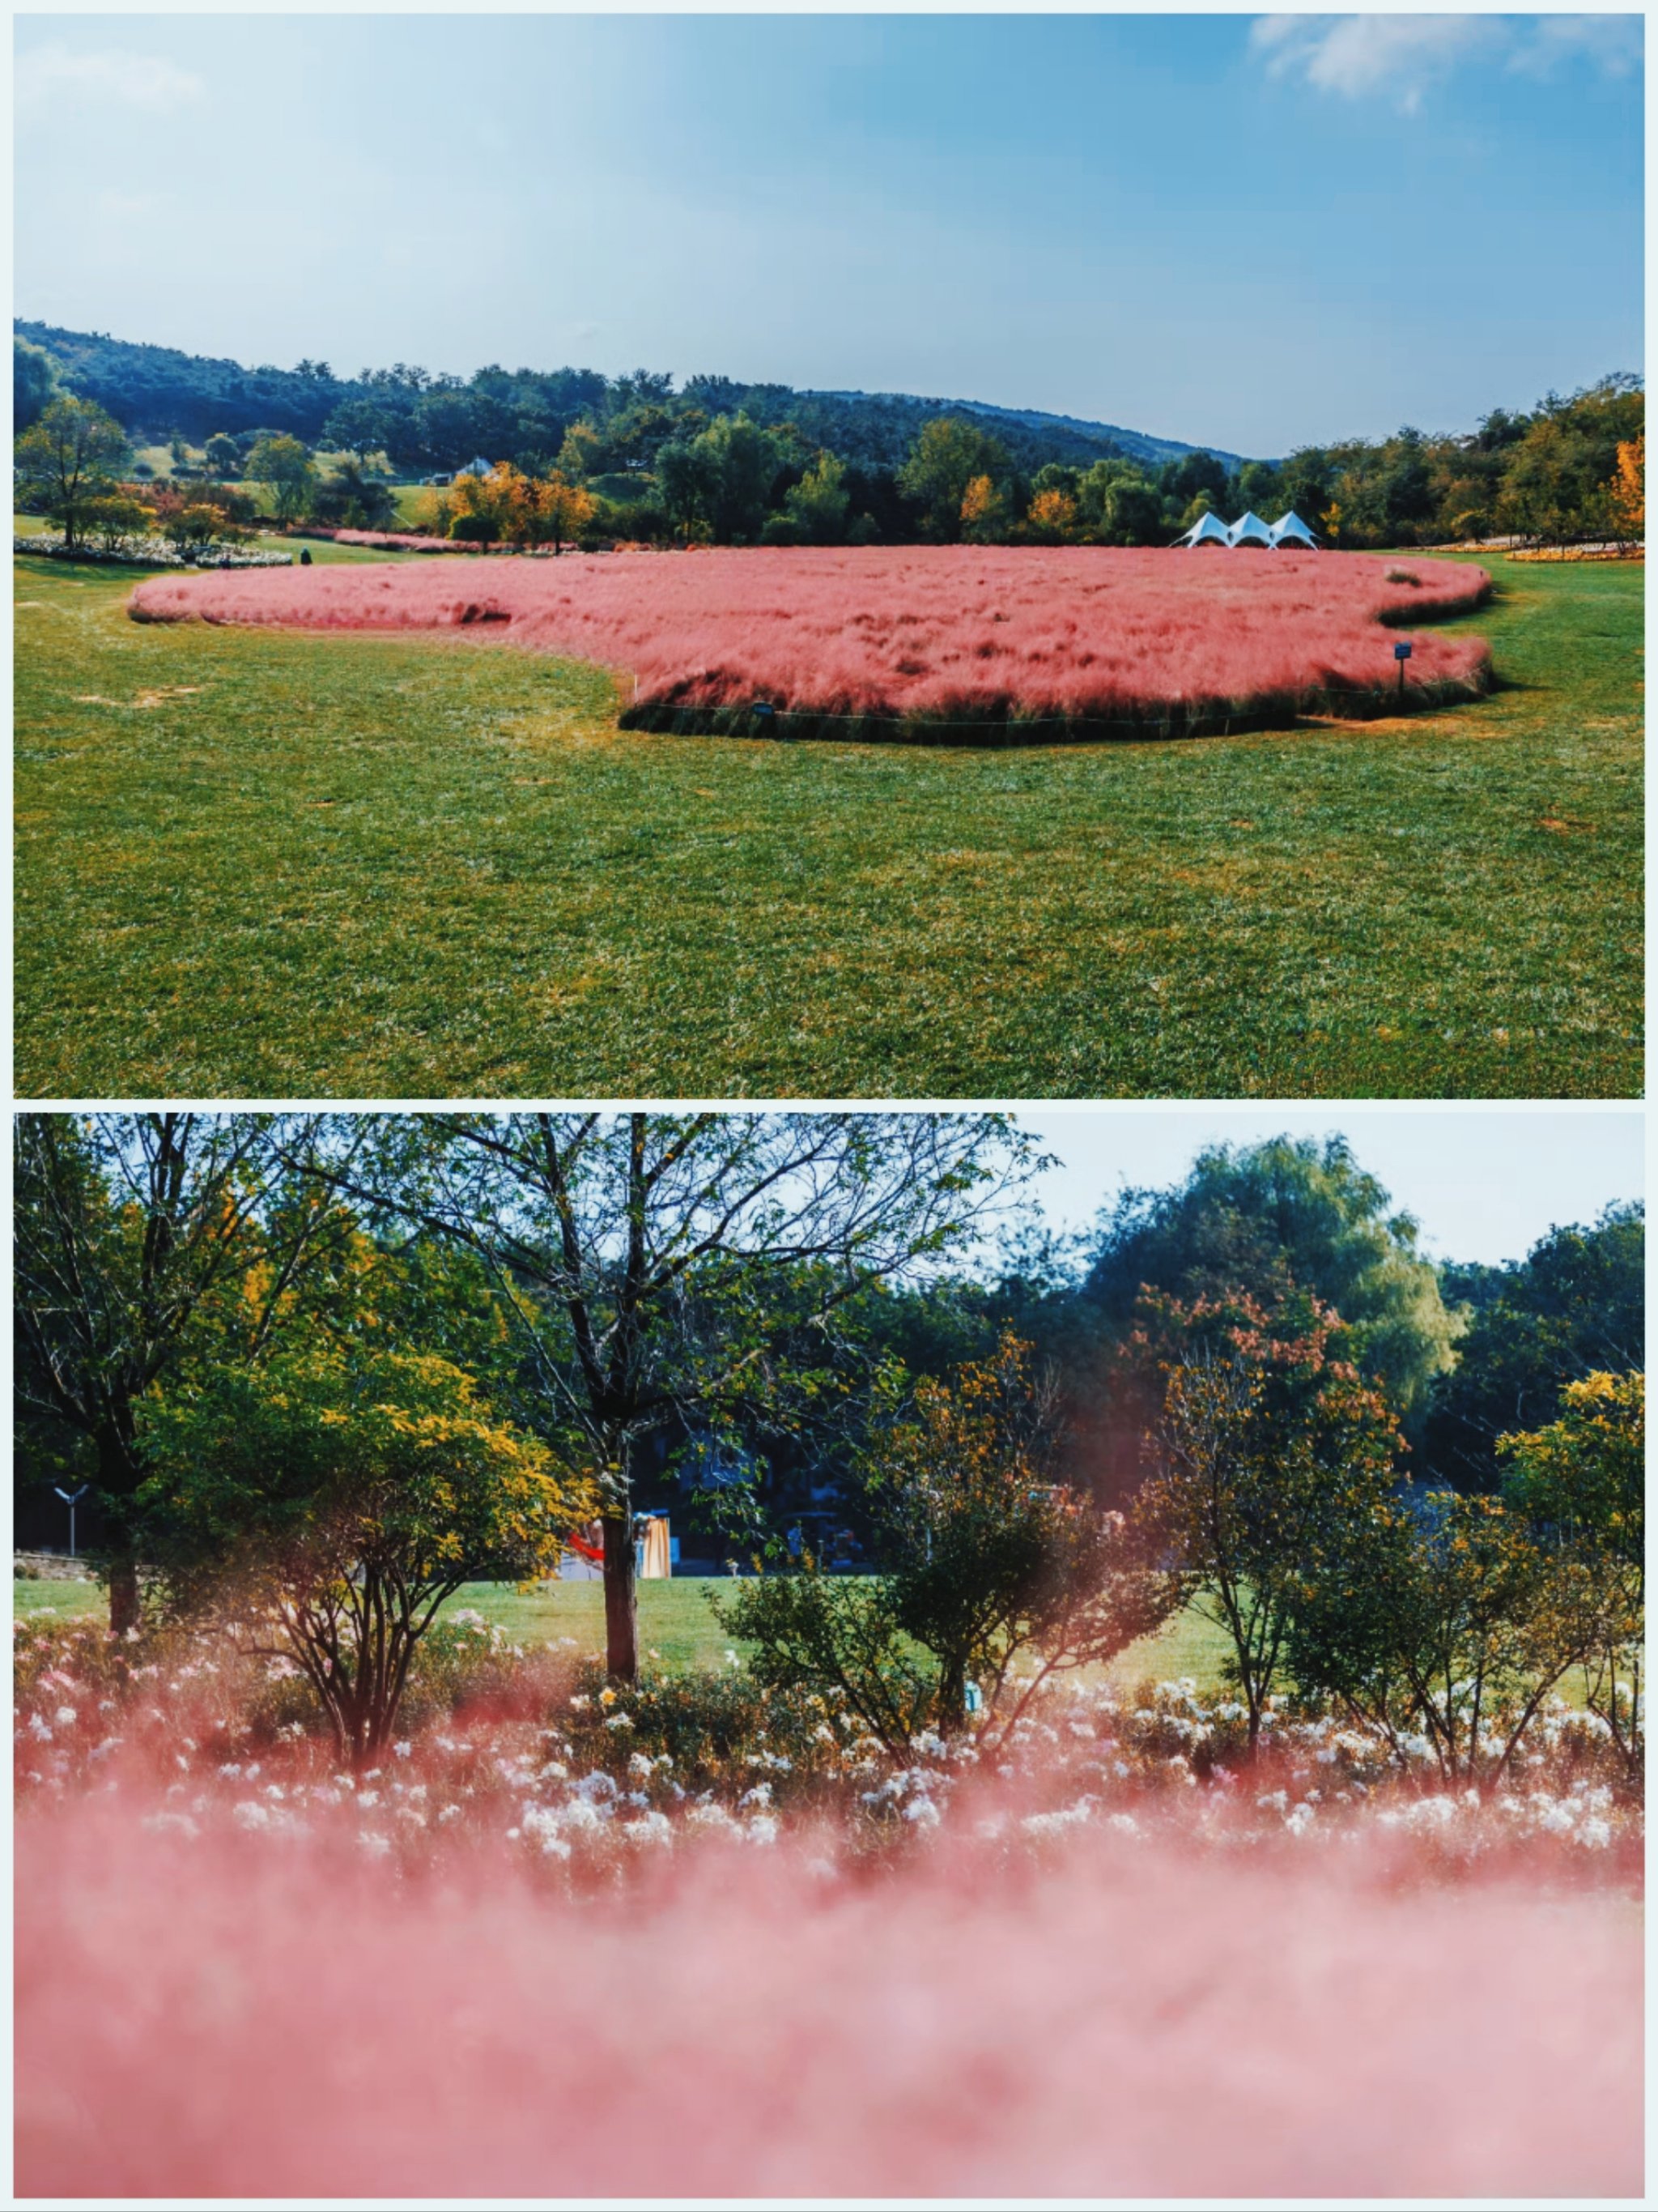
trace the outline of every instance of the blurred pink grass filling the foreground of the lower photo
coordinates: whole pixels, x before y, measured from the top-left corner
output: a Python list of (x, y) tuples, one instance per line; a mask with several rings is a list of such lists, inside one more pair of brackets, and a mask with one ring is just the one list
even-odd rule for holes
[(710, 1845), (579, 1898), (133, 1814), (18, 1823), (24, 2197), (1643, 2185), (1629, 1900), (1114, 1836)]

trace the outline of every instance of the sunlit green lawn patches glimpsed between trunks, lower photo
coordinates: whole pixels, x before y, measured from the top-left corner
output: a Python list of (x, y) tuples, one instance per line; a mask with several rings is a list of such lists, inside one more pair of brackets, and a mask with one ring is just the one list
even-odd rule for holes
[[(93, 1619), (106, 1613), (108, 1599), (95, 1582), (13, 1582), (18, 1617), (55, 1613), (60, 1619)], [(668, 1672), (685, 1668), (718, 1668), (727, 1650), (743, 1650), (714, 1617), (712, 1597), (732, 1590), (725, 1575), (688, 1575), (676, 1582), (639, 1584), (639, 1644), (646, 1663)], [(604, 1657), (604, 1584), (542, 1582), (520, 1590), (511, 1582), (469, 1582), (449, 1610), (469, 1606), (495, 1621), (515, 1644), (557, 1644), (575, 1637), (579, 1648)], [(1130, 1646), (1112, 1674), (1134, 1683), (1169, 1681), (1192, 1674), (1198, 1683), (1220, 1683), (1225, 1637), (1196, 1613), (1183, 1613), (1154, 1637)]]

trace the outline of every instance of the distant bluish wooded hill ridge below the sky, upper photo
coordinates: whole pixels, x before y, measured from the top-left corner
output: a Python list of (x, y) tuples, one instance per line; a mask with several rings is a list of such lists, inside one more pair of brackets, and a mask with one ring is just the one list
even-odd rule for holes
[[(186, 354), (172, 345), (141, 345), (113, 338), (108, 332), (62, 330), (22, 316), (13, 321), (13, 330), (55, 356), (69, 389), (97, 400), (124, 429), (148, 431), (155, 438), (177, 431), (201, 442), (214, 431), (279, 429), (314, 442), (345, 400), (389, 403), (382, 374), (371, 380), (336, 376), (327, 363), (307, 363), (303, 369), (279, 369), (267, 363), (250, 369), (239, 361)], [(453, 392), (455, 400), (475, 398), (495, 407), (506, 403), (513, 420), (522, 420), (528, 407), (546, 434), (537, 442), (550, 445), (553, 451), (568, 422), (595, 411), (595, 403), (604, 411), (608, 389), (606, 378), (592, 369), (513, 374), (480, 369), (469, 380), (440, 376), (429, 383)], [(615, 389), (623, 383), (628, 380), (612, 380)], [(1218, 447), (1154, 438), (1116, 422), (1090, 422), (1028, 407), (993, 407), (986, 400), (922, 398), (909, 392), (800, 392), (791, 385), (692, 376), (681, 389), (681, 400), (707, 411), (745, 409), (758, 422), (791, 420), (802, 436), (869, 469), (898, 469), (922, 422), (940, 414), (982, 420), (1024, 469), (1039, 469), (1048, 460), (1085, 467), (1101, 456), (1123, 456), (1156, 467), (1180, 453), (1200, 451), (1216, 453), (1229, 469), (1240, 462), (1240, 456), (1222, 453)], [(400, 396), (398, 405), (407, 407), (409, 396)], [(442, 449), (429, 451), (433, 465), (453, 467), (469, 460), (480, 442), (491, 442), (489, 414), (469, 416), (460, 407), (451, 414), (455, 451), (453, 456)], [(500, 422), (495, 442), (504, 447), (506, 438), (506, 422)]]

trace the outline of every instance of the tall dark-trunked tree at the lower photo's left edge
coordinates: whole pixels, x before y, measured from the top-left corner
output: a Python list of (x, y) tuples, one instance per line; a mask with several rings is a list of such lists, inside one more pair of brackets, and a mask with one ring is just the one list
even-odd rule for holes
[(307, 1121), (270, 1115), (15, 1119), (15, 1389), (88, 1442), (117, 1635), (139, 1610), (139, 1405), (197, 1347), (259, 1358), (345, 1241), (329, 1190), (285, 1164), (307, 1146)]

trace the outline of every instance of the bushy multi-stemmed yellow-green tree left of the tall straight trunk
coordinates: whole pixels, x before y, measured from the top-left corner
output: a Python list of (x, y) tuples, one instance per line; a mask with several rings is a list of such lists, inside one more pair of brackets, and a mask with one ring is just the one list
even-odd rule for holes
[(274, 1637), (354, 1765), (385, 1750), (462, 1582), (548, 1573), (592, 1511), (460, 1367), (323, 1332), (146, 1400), (139, 1429), (137, 1515), (172, 1608), (252, 1621), (254, 1650)]

